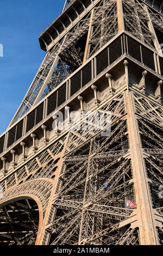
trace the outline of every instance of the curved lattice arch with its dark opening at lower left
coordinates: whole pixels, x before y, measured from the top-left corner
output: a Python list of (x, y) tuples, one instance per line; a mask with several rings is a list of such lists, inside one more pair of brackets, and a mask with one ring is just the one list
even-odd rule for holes
[(35, 245), (52, 183), (33, 179), (4, 191), (0, 199), (0, 245)]

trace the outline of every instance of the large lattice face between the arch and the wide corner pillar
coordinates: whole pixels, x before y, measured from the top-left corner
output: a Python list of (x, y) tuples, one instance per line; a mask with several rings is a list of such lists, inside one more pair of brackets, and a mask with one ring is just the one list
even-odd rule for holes
[(139, 244), (139, 230), (122, 224), (136, 208), (124, 105), (120, 95), (101, 108), (112, 113), (108, 136), (89, 117), (68, 134), (44, 244)]

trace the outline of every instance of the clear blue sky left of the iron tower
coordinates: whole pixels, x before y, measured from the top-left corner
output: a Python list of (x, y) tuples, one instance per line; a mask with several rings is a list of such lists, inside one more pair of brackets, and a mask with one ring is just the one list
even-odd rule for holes
[(1, 0), (0, 134), (3, 133), (39, 69), (45, 52), (39, 35), (61, 13), (65, 0)]

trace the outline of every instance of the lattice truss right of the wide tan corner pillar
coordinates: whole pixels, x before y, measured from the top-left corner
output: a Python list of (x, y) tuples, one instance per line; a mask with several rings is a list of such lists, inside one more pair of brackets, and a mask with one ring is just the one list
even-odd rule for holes
[[(163, 107), (136, 93), (133, 94), (133, 100), (135, 111), (139, 115), (137, 124), (145, 154), (144, 161), (153, 208), (163, 216)], [(158, 230), (162, 244), (162, 229)]]

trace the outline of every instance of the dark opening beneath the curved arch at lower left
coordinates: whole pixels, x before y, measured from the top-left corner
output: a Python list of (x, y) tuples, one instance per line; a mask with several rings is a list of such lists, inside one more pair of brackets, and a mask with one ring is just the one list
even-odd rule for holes
[(17, 198), (0, 209), (0, 245), (34, 245), (39, 208), (32, 198)]

